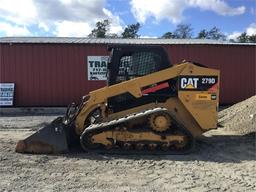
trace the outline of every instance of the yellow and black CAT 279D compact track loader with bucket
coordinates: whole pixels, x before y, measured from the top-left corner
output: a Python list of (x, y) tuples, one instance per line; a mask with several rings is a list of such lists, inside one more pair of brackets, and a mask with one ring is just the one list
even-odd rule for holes
[(80, 144), (99, 153), (179, 154), (217, 127), (219, 71), (171, 65), (158, 46), (112, 46), (108, 85), (64, 117), (17, 143), (20, 153), (65, 153)]

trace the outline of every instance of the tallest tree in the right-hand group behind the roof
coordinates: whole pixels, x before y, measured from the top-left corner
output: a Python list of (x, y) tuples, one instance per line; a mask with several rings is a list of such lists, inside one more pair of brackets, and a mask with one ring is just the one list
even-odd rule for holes
[(173, 35), (176, 39), (190, 39), (192, 37), (192, 31), (193, 29), (190, 24), (179, 24)]

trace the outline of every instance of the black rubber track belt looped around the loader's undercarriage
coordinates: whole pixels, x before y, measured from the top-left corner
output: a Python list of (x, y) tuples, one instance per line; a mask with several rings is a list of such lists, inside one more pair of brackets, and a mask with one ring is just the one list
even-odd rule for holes
[[(115, 127), (117, 127), (120, 124), (129, 122), (129, 121), (134, 121), (138, 118), (142, 118), (145, 116), (149, 116), (153, 113), (158, 113), (158, 112), (166, 112), (168, 113), (172, 120), (175, 121), (176, 126), (178, 126), (178, 129), (181, 130), (184, 135), (188, 136), (189, 140), (188, 140), (188, 144), (186, 145), (186, 147), (182, 150), (179, 151), (174, 151), (174, 150), (168, 150), (168, 151), (163, 151), (163, 150), (136, 150), (136, 149), (132, 149), (132, 150), (124, 150), (124, 149), (120, 149), (120, 148), (112, 148), (110, 150), (107, 149), (91, 149), (89, 146), (87, 146), (87, 143), (90, 143), (90, 138), (93, 135), (99, 134), (101, 132), (104, 131), (109, 131), (112, 129), (115, 129)], [(128, 130), (131, 131), (131, 130)], [(161, 135), (161, 134), (159, 134)], [(99, 123), (99, 124), (92, 124), (89, 127), (87, 127), (84, 132), (82, 133), (82, 135), (80, 136), (80, 143), (82, 148), (85, 151), (88, 152), (96, 152), (96, 153), (104, 153), (104, 154), (155, 154), (155, 155), (179, 155), (179, 154), (187, 154), (189, 152), (191, 152), (191, 150), (194, 148), (194, 138), (193, 136), (190, 134), (190, 132), (188, 132), (187, 129), (184, 128), (184, 126), (181, 123), (178, 123), (174, 116), (165, 108), (154, 108), (154, 109), (149, 109), (140, 113), (136, 113), (136, 114), (131, 114), (131, 115), (127, 115), (123, 118), (120, 119), (115, 119), (115, 120), (111, 120), (109, 122), (104, 122), (104, 123)], [(92, 144), (93, 145), (93, 144)]]

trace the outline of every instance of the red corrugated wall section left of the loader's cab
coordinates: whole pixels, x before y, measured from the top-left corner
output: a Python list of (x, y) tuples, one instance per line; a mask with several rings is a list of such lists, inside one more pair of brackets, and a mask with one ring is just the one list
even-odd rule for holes
[(105, 46), (1, 46), (0, 82), (15, 82), (16, 106), (64, 106), (105, 85), (104, 81), (87, 80), (87, 55), (107, 55)]

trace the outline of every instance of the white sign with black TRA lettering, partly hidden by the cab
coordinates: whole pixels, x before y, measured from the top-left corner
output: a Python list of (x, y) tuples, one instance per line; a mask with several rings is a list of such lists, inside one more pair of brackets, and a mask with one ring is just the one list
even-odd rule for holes
[(88, 80), (107, 80), (109, 56), (87, 56)]

